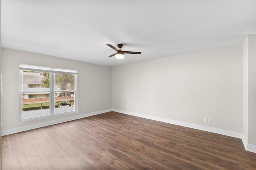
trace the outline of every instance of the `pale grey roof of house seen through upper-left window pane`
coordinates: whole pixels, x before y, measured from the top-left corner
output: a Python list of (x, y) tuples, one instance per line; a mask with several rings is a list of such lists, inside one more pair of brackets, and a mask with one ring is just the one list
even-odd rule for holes
[(23, 84), (42, 84), (44, 76), (40, 72), (23, 72), (22, 74)]

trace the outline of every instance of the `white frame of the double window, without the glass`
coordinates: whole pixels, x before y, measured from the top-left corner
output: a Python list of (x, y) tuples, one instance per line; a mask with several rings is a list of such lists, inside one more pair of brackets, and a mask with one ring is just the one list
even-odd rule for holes
[[(22, 119), (22, 71), (23, 70), (30, 70), (30, 71), (39, 71), (39, 72), (49, 72), (50, 73), (50, 85), (49, 85), (49, 92), (50, 92), (50, 115), (44, 115), (40, 117), (33, 117), (28, 119)], [(64, 68), (54, 68), (54, 67), (46, 67), (46, 66), (35, 66), (35, 65), (29, 65), (29, 64), (19, 64), (19, 71), (20, 71), (20, 121), (31, 121), (35, 119), (43, 119), (47, 117), (55, 117), (60, 115), (66, 115), (66, 114), (74, 114), (78, 113), (77, 111), (77, 70), (69, 70)], [(74, 74), (74, 90), (61, 90), (61, 91), (55, 91), (54, 89), (54, 82), (55, 82), (55, 74), (54, 73), (62, 73), (62, 74)], [(62, 113), (55, 113), (55, 92), (70, 92), (73, 91), (75, 93), (74, 96), (74, 110), (73, 111), (67, 111)]]

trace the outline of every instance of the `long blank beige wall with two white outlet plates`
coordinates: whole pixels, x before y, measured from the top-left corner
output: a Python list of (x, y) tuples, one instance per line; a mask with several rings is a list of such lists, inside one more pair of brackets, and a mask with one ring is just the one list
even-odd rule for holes
[(242, 45), (113, 67), (112, 107), (243, 133)]

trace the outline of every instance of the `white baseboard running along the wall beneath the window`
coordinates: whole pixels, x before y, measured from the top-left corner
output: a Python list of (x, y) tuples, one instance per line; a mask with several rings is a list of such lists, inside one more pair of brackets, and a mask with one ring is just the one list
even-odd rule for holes
[(18, 128), (3, 130), (1, 135), (5, 136), (5, 135), (13, 134), (13, 133), (19, 133), (19, 132), (22, 132), (22, 131), (28, 131), (28, 130), (31, 130), (31, 129), (36, 129), (36, 128), (40, 128), (40, 127), (55, 125), (55, 124), (58, 124), (58, 123), (64, 123), (64, 122), (67, 122), (67, 121), (81, 119), (81, 118), (89, 117), (89, 116), (93, 116), (93, 115), (98, 115), (98, 114), (106, 113), (106, 112), (109, 112), (109, 111), (112, 111), (112, 109), (95, 111), (95, 112), (92, 112), (92, 113), (85, 113), (85, 114), (82, 114), (82, 115), (76, 115), (76, 116), (66, 117), (66, 118), (57, 119), (57, 120), (53, 120), (53, 121), (47, 121), (47, 122), (38, 123), (38, 124), (35, 124), (35, 125), (29, 125), (29, 126), (24, 126), (24, 127), (18, 127)]

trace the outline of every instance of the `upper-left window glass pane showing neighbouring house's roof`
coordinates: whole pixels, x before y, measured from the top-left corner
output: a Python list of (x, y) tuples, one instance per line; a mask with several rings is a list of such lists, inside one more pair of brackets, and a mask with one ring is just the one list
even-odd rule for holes
[(22, 71), (22, 92), (48, 92), (49, 85), (49, 72)]

